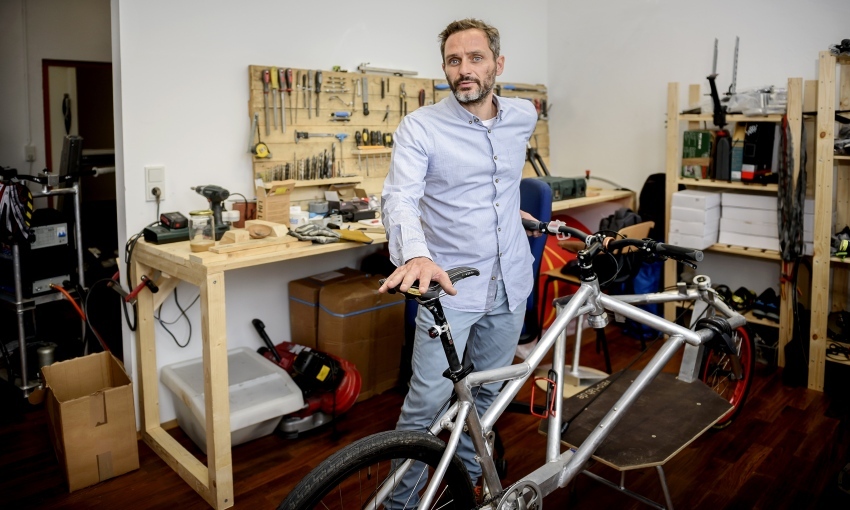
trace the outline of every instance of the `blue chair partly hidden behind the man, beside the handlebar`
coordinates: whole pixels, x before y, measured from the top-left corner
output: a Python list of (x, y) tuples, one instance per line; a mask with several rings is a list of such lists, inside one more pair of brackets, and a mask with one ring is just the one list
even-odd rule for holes
[[(534, 216), (540, 221), (552, 219), (552, 189), (545, 182), (533, 177), (525, 178), (519, 183), (519, 206), (520, 209)], [(540, 262), (543, 260), (543, 251), (546, 249), (546, 236), (529, 237), (528, 243), (531, 254), (534, 256), (534, 290), (528, 296), (525, 305), (525, 322), (519, 343), (525, 344), (540, 336), (540, 320), (537, 314), (537, 297), (539, 295)]]

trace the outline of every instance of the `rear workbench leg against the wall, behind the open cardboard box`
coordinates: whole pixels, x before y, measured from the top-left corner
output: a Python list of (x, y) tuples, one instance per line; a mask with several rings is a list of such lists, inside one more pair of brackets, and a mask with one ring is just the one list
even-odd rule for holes
[[(150, 268), (134, 263), (131, 282), (140, 281)], [(156, 332), (154, 331), (153, 294), (147, 289), (139, 292), (136, 305), (136, 358), (139, 381), (139, 419), (142, 432), (150, 432), (160, 427), (159, 421), (159, 378), (156, 369)]]

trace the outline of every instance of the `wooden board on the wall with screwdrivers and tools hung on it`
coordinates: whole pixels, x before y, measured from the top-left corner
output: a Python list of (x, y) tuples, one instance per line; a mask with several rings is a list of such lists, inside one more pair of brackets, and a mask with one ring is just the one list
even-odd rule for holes
[[(270, 152), (266, 158), (257, 155), (250, 157), (254, 179), (259, 178), (264, 182), (295, 179), (296, 186), (291, 197), (293, 204), (304, 205), (309, 200), (323, 198), (323, 192), (331, 184), (356, 183), (369, 194), (380, 194), (392, 153), (391, 148), (382, 145), (384, 136), (395, 132), (405, 114), (405, 108), (409, 114), (451, 93), (444, 79), (322, 70), (321, 92), (316, 94), (317, 71), (291, 68), (291, 92), (284, 91), (281, 97), (280, 88), (272, 90), (270, 80), (266, 95), (263, 71), (270, 71), (271, 76), (273, 70), (279, 69), (287, 68), (257, 65), (248, 68), (248, 114), (252, 124), (249, 146), (262, 141)], [(368, 88), (368, 115), (365, 115), (363, 105), (364, 79)], [(503, 83), (500, 86), (502, 95), (530, 99), (539, 106), (540, 118), (531, 144), (548, 164), (549, 126), (544, 113), (546, 88), (519, 83)], [(509, 89), (511, 87), (513, 89)], [(276, 114), (275, 102), (278, 106)], [(285, 105), (283, 121), (281, 104)], [(253, 126), (255, 116), (256, 127)], [(282, 122), (286, 125), (285, 132), (281, 127)], [(369, 143), (358, 146), (355, 134), (361, 133), (362, 136), (364, 130), (369, 134)], [(371, 143), (373, 132), (381, 134), (375, 140), (375, 145)], [(342, 138), (341, 142), (337, 136)], [(317, 161), (315, 165), (314, 158)], [(333, 166), (322, 166), (319, 163), (331, 158), (334, 159)], [(287, 164), (289, 174), (286, 173)], [(523, 175), (535, 175), (527, 162)]]

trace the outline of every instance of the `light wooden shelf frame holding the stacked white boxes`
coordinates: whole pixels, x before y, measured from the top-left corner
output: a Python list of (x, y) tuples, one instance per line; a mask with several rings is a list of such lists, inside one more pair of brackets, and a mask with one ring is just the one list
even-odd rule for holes
[[(699, 85), (690, 85), (688, 88), (688, 104), (697, 105), (702, 97)], [(788, 80), (788, 123), (791, 128), (791, 138), (794, 147), (799, 147), (801, 134), (802, 117), (803, 117), (803, 80), (801, 78), (790, 78)], [(682, 123), (687, 122), (687, 129), (700, 129), (701, 123), (712, 123), (713, 118), (707, 114), (681, 113), (682, 108), (679, 105), (679, 84), (669, 83), (667, 85), (667, 186), (666, 186), (666, 210), (667, 224), (665, 231), (670, 230), (670, 207), (673, 201), (673, 193), (679, 189), (679, 185), (684, 185), (689, 188), (702, 188), (711, 190), (738, 190), (752, 193), (777, 194), (779, 186), (777, 184), (761, 184), (761, 183), (746, 183), (746, 182), (727, 182), (714, 179), (687, 179), (681, 177), (681, 160), (682, 160)], [(762, 116), (744, 116), (744, 115), (727, 115), (726, 120), (729, 124), (735, 122), (781, 122), (782, 115), (762, 115)], [(800, 157), (799, 151), (794, 154), (794, 171), (795, 180), (796, 172), (799, 171)], [(781, 262), (779, 252), (774, 250), (763, 250), (757, 248), (747, 248), (744, 246), (734, 246), (727, 244), (715, 244), (708, 248), (708, 251), (735, 255), (739, 257), (749, 257), (762, 260), (771, 260)], [(668, 260), (664, 266), (664, 286), (669, 287), (676, 284), (677, 281), (676, 262)], [(783, 283), (781, 296), (790, 296), (790, 283)], [(668, 319), (675, 317), (675, 303), (668, 303), (664, 307), (664, 314)], [(775, 323), (769, 320), (758, 319), (752, 313), (746, 314), (747, 321), (770, 327), (779, 328), (779, 365), (785, 365), (784, 349), (786, 343), (791, 339), (793, 314), (791, 303), (787, 299), (783, 299), (780, 305), (780, 320)]]

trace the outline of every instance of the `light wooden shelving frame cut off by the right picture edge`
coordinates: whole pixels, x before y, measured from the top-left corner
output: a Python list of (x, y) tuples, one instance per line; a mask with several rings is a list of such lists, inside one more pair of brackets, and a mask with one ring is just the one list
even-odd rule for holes
[[(838, 83), (836, 83), (836, 68)], [(812, 324), (809, 337), (809, 388), (823, 391), (827, 317), (847, 309), (850, 260), (830, 257), (830, 238), (850, 224), (850, 156), (836, 155), (835, 100), (839, 109), (850, 109), (850, 57), (822, 51), (818, 64), (817, 129), (815, 131), (815, 245), (812, 256)], [(834, 186), (834, 188), (833, 188)], [(835, 211), (836, 223), (832, 223)], [(830, 277), (832, 285), (830, 285)]]

